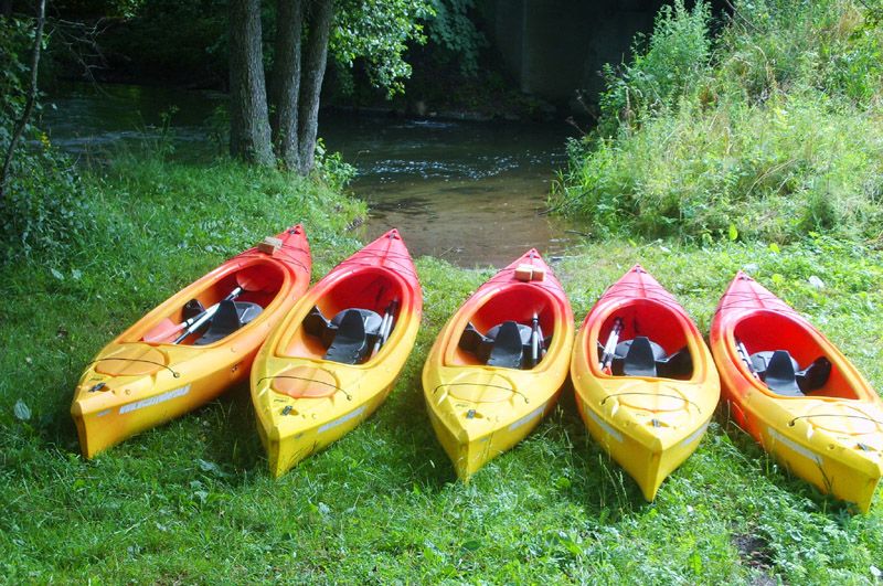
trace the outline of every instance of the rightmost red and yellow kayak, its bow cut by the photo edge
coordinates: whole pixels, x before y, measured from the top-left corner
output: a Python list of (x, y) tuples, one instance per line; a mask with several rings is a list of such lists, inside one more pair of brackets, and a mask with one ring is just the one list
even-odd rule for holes
[(868, 511), (883, 476), (883, 402), (805, 318), (744, 273), (711, 349), (735, 422), (794, 473)]

